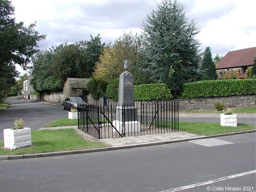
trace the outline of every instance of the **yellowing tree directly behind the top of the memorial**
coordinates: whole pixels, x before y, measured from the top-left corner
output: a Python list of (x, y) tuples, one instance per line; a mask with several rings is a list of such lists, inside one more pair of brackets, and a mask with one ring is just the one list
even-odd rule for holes
[(111, 82), (124, 72), (124, 60), (130, 62), (129, 72), (134, 75), (134, 82), (140, 79), (137, 67), (140, 61), (139, 52), (142, 48), (141, 36), (124, 33), (114, 42), (110, 42), (96, 63), (93, 76)]

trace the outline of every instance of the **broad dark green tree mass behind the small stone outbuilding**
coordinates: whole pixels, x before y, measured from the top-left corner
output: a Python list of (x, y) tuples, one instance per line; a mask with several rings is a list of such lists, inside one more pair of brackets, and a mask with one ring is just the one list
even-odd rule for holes
[(32, 57), (34, 90), (60, 91), (67, 77), (88, 78), (92, 76), (95, 62), (104, 48), (99, 35), (90, 36), (90, 41), (60, 44), (56, 48), (42, 50)]

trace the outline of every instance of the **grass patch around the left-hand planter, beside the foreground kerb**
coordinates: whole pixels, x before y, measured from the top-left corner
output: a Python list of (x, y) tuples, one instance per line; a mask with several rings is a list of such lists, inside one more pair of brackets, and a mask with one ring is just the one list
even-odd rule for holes
[(0, 141), (0, 155), (33, 154), (105, 147), (101, 142), (84, 140), (72, 128), (59, 130), (36, 130), (31, 132), (32, 146), (17, 150), (4, 149)]

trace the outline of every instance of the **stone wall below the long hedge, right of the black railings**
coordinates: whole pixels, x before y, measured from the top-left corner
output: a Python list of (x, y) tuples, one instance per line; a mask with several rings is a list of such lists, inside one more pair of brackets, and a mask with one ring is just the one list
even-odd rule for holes
[(177, 99), (179, 110), (207, 110), (214, 109), (214, 103), (220, 102), (231, 108), (255, 106), (256, 95), (242, 95), (230, 97), (211, 97), (194, 99)]

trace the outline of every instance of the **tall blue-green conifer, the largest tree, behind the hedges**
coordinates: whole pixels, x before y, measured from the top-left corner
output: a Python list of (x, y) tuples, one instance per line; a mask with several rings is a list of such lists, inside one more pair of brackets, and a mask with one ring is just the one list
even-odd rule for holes
[(168, 84), (174, 96), (182, 83), (197, 74), (200, 43), (194, 37), (199, 30), (188, 21), (184, 6), (176, 0), (162, 0), (143, 23), (142, 68), (154, 82)]

